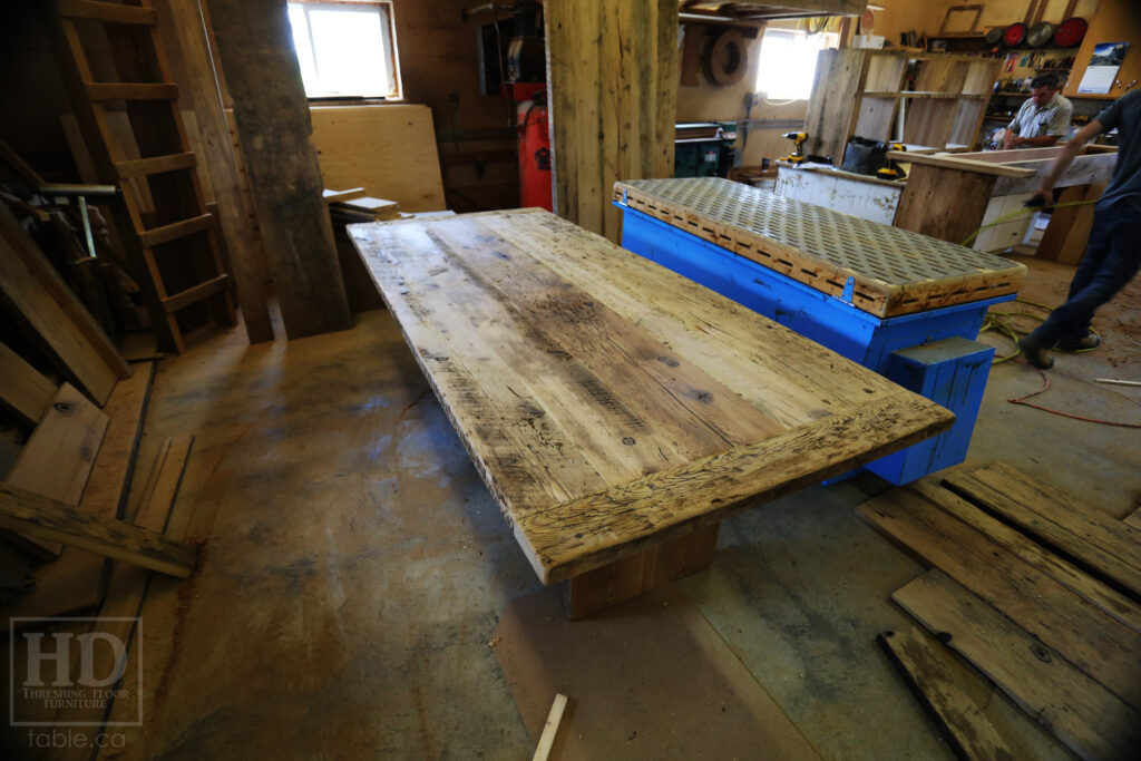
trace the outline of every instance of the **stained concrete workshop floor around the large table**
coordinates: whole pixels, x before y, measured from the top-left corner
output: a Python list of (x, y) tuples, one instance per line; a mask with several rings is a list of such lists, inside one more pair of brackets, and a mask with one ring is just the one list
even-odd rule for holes
[[(1026, 294), (1059, 301), (1071, 269), (1027, 261)], [(1141, 421), (1141, 392), (1091, 382), (1141, 378), (1139, 306), (1134, 283), (1098, 321), (1106, 350), (1059, 358), (1037, 400)], [(1127, 513), (1136, 430), (1005, 402), (1038, 383), (994, 369), (972, 458)], [(488, 638), (541, 585), (386, 311), (256, 347), (234, 331), (163, 361), (141, 456), (186, 432), (178, 509), (200, 569), (151, 585), (144, 726), (115, 758), (531, 756)], [(874, 642), (912, 625), (888, 596), (923, 569), (852, 515), (882, 488), (861, 477), (731, 518), (712, 567), (680, 586), (823, 758), (952, 759)], [(968, 679), (1018, 758), (1067, 758)]]

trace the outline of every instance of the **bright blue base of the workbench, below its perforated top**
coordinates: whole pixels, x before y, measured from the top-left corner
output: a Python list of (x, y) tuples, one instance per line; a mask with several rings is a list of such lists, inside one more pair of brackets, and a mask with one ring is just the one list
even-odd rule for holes
[[(903, 453), (869, 463), (866, 465), (868, 470), (895, 484), (906, 484), (963, 461), (994, 356), (993, 348), (976, 343), (974, 338), (982, 327), (987, 309), (1014, 299), (1014, 294), (899, 317), (876, 317), (851, 303), (852, 278), (849, 278), (840, 297), (820, 293), (620, 201), (615, 201), (614, 205), (623, 211), (623, 248), (701, 283), (955, 413), (956, 422), (950, 430)], [(933, 353), (916, 355), (904, 351), (947, 339), (960, 341), (945, 343)], [(920, 365), (926, 367), (926, 373), (916, 370)]]

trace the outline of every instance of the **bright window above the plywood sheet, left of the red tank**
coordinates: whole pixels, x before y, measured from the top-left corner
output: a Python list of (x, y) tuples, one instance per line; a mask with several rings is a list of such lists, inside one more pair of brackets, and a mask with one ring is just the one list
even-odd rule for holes
[(390, 2), (290, 2), (310, 98), (399, 97)]

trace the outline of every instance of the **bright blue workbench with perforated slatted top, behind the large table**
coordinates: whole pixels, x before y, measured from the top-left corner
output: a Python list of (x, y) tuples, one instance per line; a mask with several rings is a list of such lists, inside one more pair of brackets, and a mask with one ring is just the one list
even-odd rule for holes
[(893, 484), (962, 462), (994, 349), (974, 341), (1013, 299), (1013, 261), (715, 177), (620, 181), (622, 244), (957, 415), (866, 468)]

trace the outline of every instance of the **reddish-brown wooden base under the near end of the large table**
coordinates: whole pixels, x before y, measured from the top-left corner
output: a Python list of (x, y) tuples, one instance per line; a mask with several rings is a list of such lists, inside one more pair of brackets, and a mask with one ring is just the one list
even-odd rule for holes
[(720, 528), (720, 523), (702, 526), (639, 554), (575, 576), (566, 582), (564, 590), (567, 617), (576, 621), (701, 570), (713, 560)]

